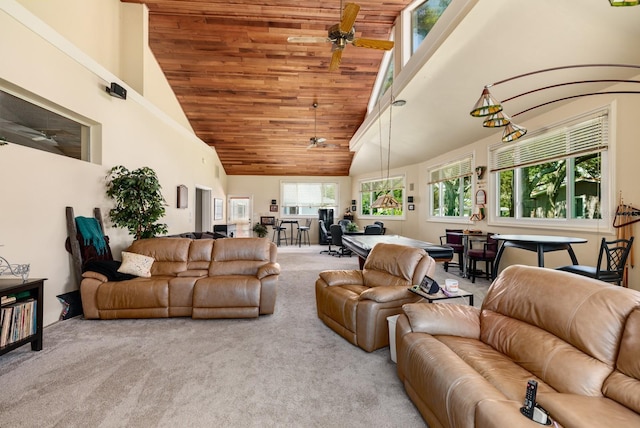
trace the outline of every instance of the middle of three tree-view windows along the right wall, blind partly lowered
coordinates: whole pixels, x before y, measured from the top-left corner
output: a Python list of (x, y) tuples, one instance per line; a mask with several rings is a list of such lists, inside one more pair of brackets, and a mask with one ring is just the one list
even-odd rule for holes
[(469, 217), (471, 215), (471, 164), (465, 156), (429, 171), (431, 216)]

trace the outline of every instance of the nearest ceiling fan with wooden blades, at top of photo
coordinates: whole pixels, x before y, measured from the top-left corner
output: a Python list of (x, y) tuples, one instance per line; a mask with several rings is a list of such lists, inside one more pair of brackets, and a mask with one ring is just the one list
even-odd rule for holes
[[(342, 10), (342, 2), (340, 9)], [(338, 67), (340, 67), (342, 51), (347, 46), (347, 43), (362, 48), (381, 49), (385, 51), (391, 50), (393, 48), (393, 42), (391, 40), (362, 39), (355, 37), (356, 30), (353, 24), (356, 21), (359, 11), (359, 5), (347, 3), (342, 12), (342, 19), (339, 23), (329, 27), (327, 37), (289, 37), (287, 41), (290, 43), (330, 42), (333, 55), (329, 63), (329, 71), (337, 70)]]

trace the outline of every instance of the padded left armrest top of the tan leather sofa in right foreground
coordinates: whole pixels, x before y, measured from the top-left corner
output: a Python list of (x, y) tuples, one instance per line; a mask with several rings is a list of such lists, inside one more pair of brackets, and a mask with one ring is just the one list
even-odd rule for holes
[(449, 303), (407, 303), (402, 310), (414, 332), (480, 339), (480, 308)]

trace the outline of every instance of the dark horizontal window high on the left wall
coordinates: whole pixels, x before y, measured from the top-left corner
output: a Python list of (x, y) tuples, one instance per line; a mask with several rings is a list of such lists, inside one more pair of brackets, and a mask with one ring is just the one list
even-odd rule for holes
[(89, 161), (88, 131), (88, 126), (0, 90), (0, 140)]

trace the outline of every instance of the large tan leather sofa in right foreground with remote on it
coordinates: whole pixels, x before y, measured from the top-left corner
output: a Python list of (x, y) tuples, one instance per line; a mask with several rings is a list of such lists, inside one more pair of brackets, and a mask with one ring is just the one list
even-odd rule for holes
[(520, 413), (529, 379), (557, 426), (640, 426), (637, 291), (511, 266), (481, 308), (403, 312), (398, 376), (430, 428), (540, 427)]

